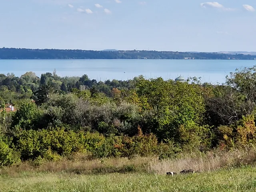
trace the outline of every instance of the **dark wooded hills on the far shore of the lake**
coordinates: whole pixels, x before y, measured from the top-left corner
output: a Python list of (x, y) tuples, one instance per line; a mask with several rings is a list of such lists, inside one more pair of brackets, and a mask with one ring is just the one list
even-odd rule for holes
[(0, 59), (240, 59), (254, 60), (256, 56), (244, 54), (192, 53), (146, 50), (59, 50), (0, 48)]

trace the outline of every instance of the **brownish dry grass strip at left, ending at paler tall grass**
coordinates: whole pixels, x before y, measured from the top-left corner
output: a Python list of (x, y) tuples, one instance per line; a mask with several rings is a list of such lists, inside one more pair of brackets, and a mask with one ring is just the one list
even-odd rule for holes
[[(82, 157), (82, 158), (81, 158)], [(112, 158), (86, 160), (83, 154), (77, 154), (73, 160), (62, 159), (58, 162), (44, 162), (35, 166), (33, 162), (23, 162), (19, 166), (0, 170), (0, 174), (15, 175), (20, 172), (68, 172), (74, 174), (109, 174), (126, 172), (146, 172), (153, 158)]]

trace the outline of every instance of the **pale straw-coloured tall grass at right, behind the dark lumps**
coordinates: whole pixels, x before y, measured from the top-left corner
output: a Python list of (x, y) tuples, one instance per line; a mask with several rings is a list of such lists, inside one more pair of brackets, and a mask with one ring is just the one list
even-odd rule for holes
[(157, 174), (166, 172), (180, 172), (184, 169), (193, 169), (200, 172), (218, 170), (220, 168), (238, 167), (253, 164), (256, 161), (256, 150), (229, 151), (229, 152), (208, 152), (204, 155), (191, 158), (180, 158), (176, 160), (153, 160), (149, 163), (148, 171)]

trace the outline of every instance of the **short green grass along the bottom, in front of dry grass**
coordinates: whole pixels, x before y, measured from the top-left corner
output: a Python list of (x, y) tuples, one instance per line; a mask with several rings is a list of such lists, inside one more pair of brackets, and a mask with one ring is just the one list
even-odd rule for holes
[(256, 168), (246, 166), (200, 174), (49, 173), (22, 171), (0, 175), (1, 192), (254, 192)]

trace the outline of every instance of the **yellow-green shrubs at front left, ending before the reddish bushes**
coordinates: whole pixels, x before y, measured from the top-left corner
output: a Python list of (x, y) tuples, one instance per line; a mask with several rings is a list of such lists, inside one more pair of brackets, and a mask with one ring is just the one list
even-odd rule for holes
[(54, 130), (24, 130), (15, 136), (16, 150), (22, 160), (34, 160), (41, 156), (47, 160), (59, 160), (74, 152), (97, 153), (105, 143), (99, 133), (65, 131), (65, 128)]

